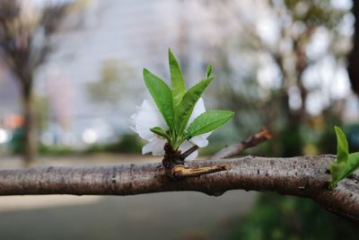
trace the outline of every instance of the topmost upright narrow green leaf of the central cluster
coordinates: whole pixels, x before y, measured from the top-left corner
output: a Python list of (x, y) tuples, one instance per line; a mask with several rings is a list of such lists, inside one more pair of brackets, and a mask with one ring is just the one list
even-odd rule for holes
[(180, 70), (180, 63), (169, 49), (169, 64), (171, 73), (171, 86), (173, 94), (173, 105), (177, 106), (186, 93), (185, 81), (183, 80), (182, 71)]

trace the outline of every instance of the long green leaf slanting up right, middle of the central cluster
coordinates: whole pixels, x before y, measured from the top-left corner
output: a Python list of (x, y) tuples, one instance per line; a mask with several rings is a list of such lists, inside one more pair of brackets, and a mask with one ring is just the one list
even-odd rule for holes
[(198, 99), (201, 97), (208, 84), (214, 79), (215, 76), (210, 76), (189, 88), (179, 105), (175, 107), (176, 133), (178, 136), (181, 136), (186, 129), (189, 117), (191, 116)]

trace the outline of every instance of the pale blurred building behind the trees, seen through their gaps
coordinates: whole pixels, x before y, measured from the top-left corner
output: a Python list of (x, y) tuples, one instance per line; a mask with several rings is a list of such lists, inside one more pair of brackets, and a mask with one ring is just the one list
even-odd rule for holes
[[(53, 1), (34, 1), (39, 5), (47, 2)], [(207, 63), (215, 63), (215, 73), (219, 68), (224, 71), (231, 68), (232, 76), (224, 73), (212, 87), (220, 87), (226, 81), (238, 90), (245, 79), (252, 76), (258, 82), (256, 94), (263, 94), (263, 97), (280, 87), (282, 76), (273, 59), (264, 51), (250, 50), (258, 45), (258, 40), (268, 48), (279, 45), (278, 22), (267, 1), (223, 4), (215, 1), (89, 0), (84, 3), (81, 9), (68, 16), (64, 30), (54, 37), (56, 48), (36, 76), (36, 93), (48, 102), (48, 122), (41, 129), (43, 143), (81, 147), (112, 141), (129, 131), (130, 114), (149, 97), (144, 88), (143, 67), (169, 79), (169, 47), (180, 58), (188, 86), (205, 75)], [(348, 7), (346, 3), (345, 8)], [(345, 23), (343, 26), (347, 29), (352, 22)], [(311, 53), (325, 55), (327, 33), (325, 30), (319, 32), (317, 40), (310, 44)], [(88, 85), (101, 81), (101, 69), (109, 60), (118, 65), (122, 80), (118, 101), (112, 104), (94, 102)], [(345, 64), (337, 70), (332, 62), (330, 58), (323, 58), (305, 75), (306, 83), (320, 85), (319, 91), (309, 96), (308, 109), (312, 114), (318, 114), (328, 105), (328, 99), (343, 98), (350, 93)], [(333, 82), (333, 78), (337, 81)], [(19, 97), (15, 84), (9, 79), (10, 76), (0, 82), (0, 104), (6, 106), (1, 109), (18, 112)], [(292, 92), (290, 103), (295, 108), (298, 93)], [(218, 102), (208, 98), (209, 105)], [(3, 99), (10, 102), (4, 103)], [(357, 111), (350, 112), (353, 115)]]

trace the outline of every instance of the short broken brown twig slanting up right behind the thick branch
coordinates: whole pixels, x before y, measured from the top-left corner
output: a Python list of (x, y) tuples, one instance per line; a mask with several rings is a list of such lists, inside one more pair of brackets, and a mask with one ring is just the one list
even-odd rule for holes
[(258, 133), (250, 136), (239, 144), (223, 148), (221, 151), (211, 156), (209, 159), (221, 159), (239, 155), (243, 150), (250, 147), (256, 147), (260, 143), (272, 138), (268, 129), (262, 129)]

